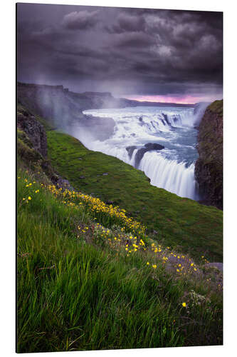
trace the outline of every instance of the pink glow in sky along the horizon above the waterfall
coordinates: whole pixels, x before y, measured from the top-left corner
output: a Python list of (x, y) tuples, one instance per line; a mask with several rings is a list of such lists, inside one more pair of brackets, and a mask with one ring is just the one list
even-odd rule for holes
[(161, 103), (179, 103), (179, 104), (195, 104), (199, 101), (215, 101), (222, 99), (221, 96), (123, 96), (123, 98), (134, 101), (158, 101)]

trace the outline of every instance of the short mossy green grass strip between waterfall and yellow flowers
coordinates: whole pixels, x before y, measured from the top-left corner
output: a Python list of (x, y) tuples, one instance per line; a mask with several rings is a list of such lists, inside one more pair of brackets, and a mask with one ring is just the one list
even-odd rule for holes
[(196, 260), (205, 255), (222, 261), (222, 211), (151, 186), (142, 171), (90, 151), (68, 134), (47, 131), (47, 139), (53, 169), (76, 190), (124, 208), (164, 245), (181, 248)]

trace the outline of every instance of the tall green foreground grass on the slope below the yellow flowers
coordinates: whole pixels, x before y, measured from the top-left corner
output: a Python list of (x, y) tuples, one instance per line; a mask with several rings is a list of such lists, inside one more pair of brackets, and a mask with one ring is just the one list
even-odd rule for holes
[(108, 213), (109, 220), (88, 200), (80, 204), (75, 193), (38, 180), (19, 171), (18, 352), (222, 343), (222, 293), (213, 274), (211, 283), (169, 271), (149, 238), (146, 251), (130, 254), (122, 242), (98, 240), (102, 224), (118, 236), (117, 216)]

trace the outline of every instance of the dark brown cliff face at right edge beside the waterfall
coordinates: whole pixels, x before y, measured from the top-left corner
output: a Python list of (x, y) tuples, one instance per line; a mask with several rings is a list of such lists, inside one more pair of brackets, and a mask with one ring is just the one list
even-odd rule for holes
[(223, 100), (207, 107), (199, 125), (195, 165), (203, 203), (223, 208)]

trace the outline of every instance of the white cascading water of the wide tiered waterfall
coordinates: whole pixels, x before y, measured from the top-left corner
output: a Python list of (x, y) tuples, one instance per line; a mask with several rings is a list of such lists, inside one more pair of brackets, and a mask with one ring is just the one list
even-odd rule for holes
[(137, 167), (154, 186), (181, 197), (199, 199), (194, 178), (198, 153), (193, 108), (139, 106), (95, 109), (84, 114), (115, 121), (114, 133), (105, 141), (86, 142), (85, 136), (77, 135), (88, 149)]

